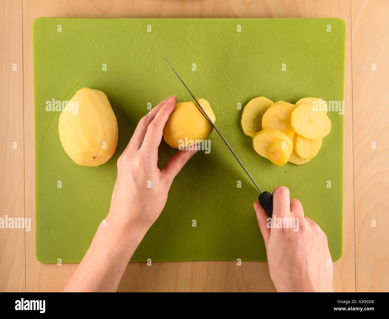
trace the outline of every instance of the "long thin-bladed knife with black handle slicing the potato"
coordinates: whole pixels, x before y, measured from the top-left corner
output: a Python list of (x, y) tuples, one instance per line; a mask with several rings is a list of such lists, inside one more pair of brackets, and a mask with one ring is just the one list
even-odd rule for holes
[(259, 191), (259, 196), (258, 196), (258, 201), (259, 203), (261, 204), (261, 206), (263, 207), (263, 209), (265, 210), (266, 214), (269, 216), (269, 217), (272, 217), (273, 215), (273, 195), (270, 194), (268, 191), (261, 191), (261, 189), (258, 187), (257, 183), (255, 183), (254, 179), (251, 177), (250, 173), (247, 171), (247, 169), (244, 167), (244, 165), (242, 164), (242, 162), (240, 161), (240, 159), (238, 158), (237, 154), (235, 154), (235, 152), (231, 149), (231, 146), (227, 143), (226, 139), (223, 137), (223, 135), (220, 133), (219, 129), (217, 129), (217, 127), (215, 126), (215, 124), (210, 120), (210, 118), (208, 117), (207, 113), (205, 113), (205, 111), (203, 110), (202, 106), (200, 105), (200, 103), (198, 103), (198, 101), (196, 100), (196, 98), (193, 96), (192, 92), (188, 89), (188, 87), (185, 85), (184, 81), (182, 81), (182, 79), (180, 78), (180, 76), (177, 74), (177, 72), (175, 71), (175, 69), (173, 68), (173, 66), (170, 64), (170, 62), (168, 61), (168, 59), (165, 57), (165, 55), (163, 55), (163, 53), (161, 52), (161, 50), (159, 50), (158, 46), (156, 46), (156, 44), (154, 43), (155, 47), (157, 48), (157, 50), (159, 51), (159, 53), (161, 53), (161, 55), (163, 56), (163, 58), (166, 60), (166, 62), (168, 62), (169, 66), (172, 68), (173, 72), (175, 73), (175, 75), (177, 75), (177, 77), (179, 78), (179, 80), (181, 81), (181, 83), (184, 85), (185, 89), (189, 92), (189, 94), (191, 95), (191, 97), (195, 100), (196, 104), (198, 105), (198, 107), (200, 108), (200, 110), (202, 110), (202, 113), (203, 115), (207, 118), (207, 120), (210, 122), (210, 124), (214, 127), (214, 129), (216, 130), (216, 132), (220, 135), (221, 139), (223, 140), (223, 142), (227, 145), (227, 147), (230, 149), (231, 153), (235, 156), (235, 158), (237, 159), (238, 163), (240, 164), (240, 166), (242, 166), (242, 168), (244, 169), (244, 171), (246, 172), (246, 174), (250, 177), (252, 183), (254, 183), (255, 187), (258, 189)]

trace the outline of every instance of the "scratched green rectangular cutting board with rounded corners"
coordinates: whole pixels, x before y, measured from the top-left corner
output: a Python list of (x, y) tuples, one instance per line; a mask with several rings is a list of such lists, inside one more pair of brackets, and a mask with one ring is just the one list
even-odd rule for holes
[[(343, 100), (345, 23), (337, 18), (36, 19), (37, 259), (81, 261), (109, 211), (116, 160), (148, 103), (171, 94), (179, 102), (191, 100), (154, 43), (193, 94), (209, 101), (220, 131), (261, 189), (287, 186), (327, 234), (333, 260), (339, 259), (343, 115), (328, 112), (331, 133), (319, 154), (301, 166), (262, 158), (240, 127), (243, 107), (253, 97)], [(107, 94), (119, 126), (116, 152), (99, 167), (79, 166), (67, 156), (58, 136), (60, 112), (46, 111), (46, 101), (69, 100), (82, 87)], [(210, 153), (198, 152), (176, 177), (165, 209), (131, 261), (266, 260), (252, 206), (258, 191), (215, 132), (210, 140)], [(159, 165), (174, 152), (162, 140)]]

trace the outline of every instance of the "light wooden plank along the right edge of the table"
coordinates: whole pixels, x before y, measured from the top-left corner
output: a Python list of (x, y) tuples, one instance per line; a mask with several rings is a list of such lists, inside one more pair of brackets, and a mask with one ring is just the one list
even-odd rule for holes
[(389, 2), (353, 1), (351, 12), (356, 290), (389, 291)]

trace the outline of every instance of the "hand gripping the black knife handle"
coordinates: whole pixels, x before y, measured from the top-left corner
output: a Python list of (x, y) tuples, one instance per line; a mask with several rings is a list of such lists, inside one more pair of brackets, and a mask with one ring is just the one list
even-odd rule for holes
[[(268, 216), (254, 202), (259, 228), (265, 240), (270, 277), (279, 292), (333, 291), (333, 263), (327, 236), (320, 227), (304, 217), (297, 199), (289, 199), (289, 190), (280, 186), (273, 192), (273, 217), (298, 218), (293, 228), (268, 228)], [(274, 224), (273, 224), (274, 225)]]

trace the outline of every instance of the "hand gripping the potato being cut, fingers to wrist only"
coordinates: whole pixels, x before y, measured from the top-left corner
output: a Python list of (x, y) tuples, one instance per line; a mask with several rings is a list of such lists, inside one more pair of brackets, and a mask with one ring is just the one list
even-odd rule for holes
[(140, 119), (123, 154), (117, 160), (117, 179), (107, 216), (124, 232), (144, 235), (166, 204), (174, 177), (196, 150), (177, 151), (161, 170), (157, 167), (158, 146), (163, 128), (177, 98), (164, 99)]

